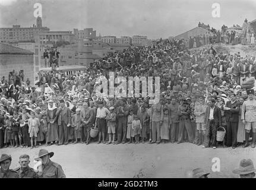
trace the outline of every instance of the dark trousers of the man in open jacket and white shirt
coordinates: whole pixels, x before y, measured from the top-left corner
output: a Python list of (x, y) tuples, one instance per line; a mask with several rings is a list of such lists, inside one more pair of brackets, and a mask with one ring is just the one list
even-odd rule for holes
[(216, 147), (217, 125), (218, 124), (215, 124), (214, 120), (208, 121), (208, 124), (206, 126), (206, 134), (204, 137), (204, 146), (205, 147), (209, 147), (209, 145)]

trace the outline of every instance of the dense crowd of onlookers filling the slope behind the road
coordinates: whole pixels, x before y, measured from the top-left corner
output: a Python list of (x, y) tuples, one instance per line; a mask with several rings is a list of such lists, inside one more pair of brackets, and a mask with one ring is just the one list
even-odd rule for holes
[[(35, 85), (3, 77), (0, 147), (97, 141), (189, 142), (216, 148), (221, 141), (236, 148), (248, 147), (249, 137), (255, 147), (255, 63), (254, 56), (239, 52), (188, 50), (184, 40), (161, 39), (153, 46), (109, 53), (84, 72), (40, 72)], [(109, 71), (115, 77), (160, 77), (159, 103), (149, 103), (151, 94), (97, 97), (96, 79), (109, 78)]]

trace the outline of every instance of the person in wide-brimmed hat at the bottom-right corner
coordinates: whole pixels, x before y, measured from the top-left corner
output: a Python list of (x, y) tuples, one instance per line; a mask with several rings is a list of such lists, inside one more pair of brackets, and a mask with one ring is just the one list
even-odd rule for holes
[(254, 178), (256, 169), (251, 159), (242, 159), (239, 168), (233, 170), (233, 173), (238, 174), (240, 178)]

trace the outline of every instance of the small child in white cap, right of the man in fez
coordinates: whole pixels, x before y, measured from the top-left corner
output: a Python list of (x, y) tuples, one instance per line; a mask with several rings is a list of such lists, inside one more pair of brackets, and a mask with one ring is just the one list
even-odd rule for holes
[(80, 139), (80, 142), (82, 143), (82, 131), (83, 131), (83, 128), (81, 126), (82, 124), (82, 121), (81, 121), (81, 109), (80, 108), (77, 108), (75, 110), (75, 115), (72, 117), (71, 119), (71, 125), (74, 126), (75, 128), (75, 143), (78, 142), (78, 139)]

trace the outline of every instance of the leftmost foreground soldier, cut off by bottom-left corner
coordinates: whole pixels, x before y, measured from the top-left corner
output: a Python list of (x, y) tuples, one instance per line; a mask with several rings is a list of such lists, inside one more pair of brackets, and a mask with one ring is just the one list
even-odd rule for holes
[(18, 178), (18, 172), (10, 169), (11, 155), (2, 154), (0, 158), (0, 178)]

